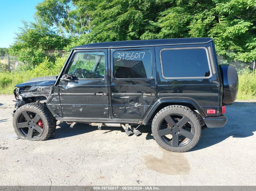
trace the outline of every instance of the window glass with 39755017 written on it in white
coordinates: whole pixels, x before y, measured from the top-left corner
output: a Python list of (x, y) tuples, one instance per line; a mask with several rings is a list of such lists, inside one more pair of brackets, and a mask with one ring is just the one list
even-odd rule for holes
[(124, 50), (114, 53), (115, 78), (150, 78), (152, 62), (150, 50)]

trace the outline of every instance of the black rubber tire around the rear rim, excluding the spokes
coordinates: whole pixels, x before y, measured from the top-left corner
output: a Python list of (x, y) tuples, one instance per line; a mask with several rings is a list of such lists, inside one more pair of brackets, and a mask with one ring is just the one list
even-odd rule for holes
[[(165, 142), (163, 142), (158, 135), (158, 125), (161, 123), (162, 119), (171, 113), (180, 113), (184, 116), (187, 116), (191, 123), (193, 123), (195, 132), (194, 132), (194, 138), (189, 142), (187, 145), (183, 147), (172, 147), (167, 145)], [(199, 141), (199, 138), (201, 136), (201, 123), (198, 117), (195, 115), (195, 113), (189, 108), (185, 106), (180, 105), (171, 105), (167, 106), (163, 109), (161, 109), (154, 117), (152, 121), (152, 134), (155, 139), (155, 141), (160, 145), (162, 148), (164, 148), (167, 151), (172, 152), (185, 152), (193, 148)]]

